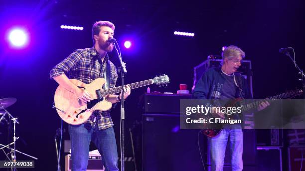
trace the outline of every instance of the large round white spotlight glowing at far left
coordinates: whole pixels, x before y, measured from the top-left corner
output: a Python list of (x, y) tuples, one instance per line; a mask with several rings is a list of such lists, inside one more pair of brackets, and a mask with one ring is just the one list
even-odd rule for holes
[(8, 33), (8, 40), (12, 46), (23, 47), (28, 41), (28, 35), (21, 28), (14, 28)]

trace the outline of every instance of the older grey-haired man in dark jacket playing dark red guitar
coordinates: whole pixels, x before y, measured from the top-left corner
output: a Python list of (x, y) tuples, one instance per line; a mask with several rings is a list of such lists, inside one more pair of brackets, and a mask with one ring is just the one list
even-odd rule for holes
[[(192, 93), (193, 99), (252, 99), (247, 82), (237, 69), (245, 52), (237, 46), (230, 45), (222, 52), (222, 66), (209, 68), (198, 80)], [(224, 105), (224, 104), (222, 104)], [(262, 102), (258, 110), (269, 106)], [(220, 111), (212, 113), (215, 118), (225, 118)], [(236, 116), (240, 117), (240, 116)], [(243, 131), (241, 124), (224, 125), (224, 129), (215, 137), (208, 138), (211, 154), (211, 170), (222, 171), (227, 142), (230, 142), (231, 164), (233, 171), (243, 170)]]

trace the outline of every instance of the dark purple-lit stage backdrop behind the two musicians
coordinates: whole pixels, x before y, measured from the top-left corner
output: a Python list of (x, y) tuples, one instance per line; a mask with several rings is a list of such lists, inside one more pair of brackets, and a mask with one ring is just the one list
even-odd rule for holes
[[(7, 108), (20, 122), (16, 126), (20, 137), (17, 149), (39, 159), (35, 163), (37, 171), (56, 169), (54, 135), (60, 118), (52, 102), (58, 85), (49, 78), (49, 71), (75, 49), (92, 46), (95, 21), (115, 24), (115, 38), (121, 43), (127, 63), (126, 83), (163, 73), (169, 76), (167, 87), (152, 85), (151, 91), (175, 93), (179, 84), (187, 84), (190, 90), (193, 67), (210, 54), (220, 55), (221, 47), (231, 44), (241, 47), (246, 52), (245, 60), (252, 61), (257, 99), (300, 87), (293, 63), (279, 53), (281, 47), (294, 47), (297, 63), (305, 68), (302, 0), (4, 0), (0, 11), (0, 98), (17, 98)], [(14, 24), (26, 27), (30, 33), (26, 49), (15, 50), (7, 45), (6, 32)], [(61, 29), (62, 24), (83, 26), (84, 30)], [(175, 36), (173, 31), (194, 32), (195, 36)], [(132, 40), (131, 49), (123, 48), (127, 38)], [(118, 66), (115, 54), (110, 56)], [(132, 90), (126, 101), (126, 130), (141, 120), (138, 102), (146, 89)], [(119, 142), (119, 106), (112, 118)], [(6, 140), (5, 129), (1, 124), (2, 143)], [(128, 138), (126, 151), (126, 156), (132, 156)], [(21, 155), (17, 159), (29, 160)]]

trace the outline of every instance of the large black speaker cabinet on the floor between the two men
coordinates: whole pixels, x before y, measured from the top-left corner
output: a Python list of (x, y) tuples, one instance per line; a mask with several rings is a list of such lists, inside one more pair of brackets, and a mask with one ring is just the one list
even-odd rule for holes
[[(143, 171), (203, 171), (199, 131), (180, 130), (179, 115), (144, 114)], [(199, 145), (204, 147), (203, 135)]]

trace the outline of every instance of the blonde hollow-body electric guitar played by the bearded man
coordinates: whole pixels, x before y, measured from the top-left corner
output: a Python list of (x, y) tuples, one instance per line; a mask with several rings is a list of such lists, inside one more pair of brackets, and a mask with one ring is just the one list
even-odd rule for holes
[[(58, 86), (54, 95), (54, 104), (60, 118), (71, 125), (79, 125), (86, 122), (91, 114), (96, 110), (108, 111), (112, 104), (108, 102), (106, 96), (120, 93), (122, 86), (103, 90), (105, 84), (103, 78), (98, 78), (90, 84), (85, 84), (79, 80), (70, 79), (79, 88), (85, 89), (91, 97), (91, 101), (83, 103), (74, 93), (62, 86)], [(163, 85), (169, 83), (167, 75), (154, 77), (153, 79), (128, 84), (131, 89), (143, 87), (150, 84)]]

